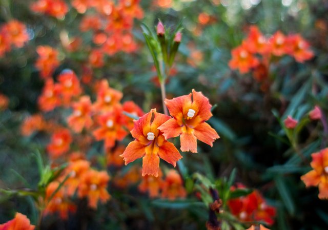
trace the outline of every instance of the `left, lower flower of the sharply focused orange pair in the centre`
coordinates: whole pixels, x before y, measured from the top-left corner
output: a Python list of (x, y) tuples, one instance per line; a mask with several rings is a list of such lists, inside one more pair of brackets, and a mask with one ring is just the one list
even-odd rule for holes
[(157, 113), (152, 109), (149, 113), (134, 121), (131, 131), (134, 141), (130, 142), (121, 157), (125, 164), (142, 157), (142, 176), (158, 176), (159, 158), (173, 166), (182, 158), (174, 144), (165, 140), (158, 127), (168, 121), (169, 116)]

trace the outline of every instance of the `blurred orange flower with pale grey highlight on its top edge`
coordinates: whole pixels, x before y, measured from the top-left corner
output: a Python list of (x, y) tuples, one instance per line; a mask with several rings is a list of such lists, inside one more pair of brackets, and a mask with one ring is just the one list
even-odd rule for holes
[(58, 83), (55, 88), (62, 96), (65, 106), (69, 106), (72, 97), (80, 95), (82, 91), (77, 76), (70, 69), (61, 71), (58, 75)]

